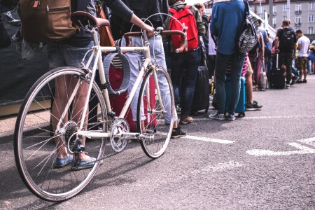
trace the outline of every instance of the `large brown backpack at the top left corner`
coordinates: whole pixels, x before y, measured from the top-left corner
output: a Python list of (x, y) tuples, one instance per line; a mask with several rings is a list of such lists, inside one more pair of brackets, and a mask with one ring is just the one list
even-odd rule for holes
[(71, 0), (20, 0), (22, 34), (30, 42), (55, 42), (76, 32), (71, 22)]

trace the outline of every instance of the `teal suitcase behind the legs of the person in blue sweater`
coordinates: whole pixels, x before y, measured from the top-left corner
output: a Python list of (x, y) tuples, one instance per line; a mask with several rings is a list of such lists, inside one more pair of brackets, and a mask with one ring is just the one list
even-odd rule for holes
[[(225, 112), (228, 113), (228, 107), (230, 106), (232, 83), (229, 77), (225, 81)], [(238, 117), (244, 117), (246, 110), (246, 87), (245, 78), (241, 77), (241, 90), (239, 92), (239, 102), (237, 102), (237, 107), (235, 113), (239, 113)]]

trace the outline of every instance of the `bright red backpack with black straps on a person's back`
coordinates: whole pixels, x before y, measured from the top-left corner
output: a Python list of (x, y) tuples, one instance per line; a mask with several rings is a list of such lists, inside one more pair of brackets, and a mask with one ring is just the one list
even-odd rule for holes
[[(171, 18), (171, 21), (169, 22), (169, 29), (182, 31), (183, 27), (186, 27), (188, 51), (194, 50), (199, 44), (197, 24), (192, 11), (189, 9), (190, 7), (191, 6), (185, 6), (185, 8), (181, 10), (176, 10), (174, 8), (169, 9), (169, 13), (173, 14), (173, 18)], [(179, 20), (183, 27), (174, 18)], [(181, 36), (172, 35), (172, 43), (175, 49), (179, 48), (181, 45)]]

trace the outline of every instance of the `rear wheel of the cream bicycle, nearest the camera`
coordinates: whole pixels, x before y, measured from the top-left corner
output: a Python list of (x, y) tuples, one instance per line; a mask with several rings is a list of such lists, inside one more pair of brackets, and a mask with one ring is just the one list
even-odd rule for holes
[[(83, 137), (89, 156), (96, 158), (91, 168), (73, 170), (70, 159), (57, 161), (57, 154), (60, 156), (62, 150), (69, 154), (68, 148), (76, 141), (90, 84), (85, 75), (73, 67), (45, 73), (31, 87), (20, 108), (15, 125), (15, 162), (25, 186), (43, 200), (62, 201), (78, 194), (100, 165), (106, 139)], [(96, 83), (92, 85), (90, 104), (86, 116), (89, 120), (85, 120), (83, 129), (106, 132), (106, 106)]]

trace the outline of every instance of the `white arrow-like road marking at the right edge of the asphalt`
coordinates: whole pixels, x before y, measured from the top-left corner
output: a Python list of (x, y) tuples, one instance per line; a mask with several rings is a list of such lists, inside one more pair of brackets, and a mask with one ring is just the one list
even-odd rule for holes
[(290, 146), (293, 146), (299, 151), (267, 151), (267, 150), (260, 150), (260, 149), (253, 149), (250, 151), (246, 151), (248, 155), (254, 156), (283, 156), (283, 155), (302, 155), (302, 154), (314, 154), (315, 150), (309, 148), (307, 146), (302, 146), (301, 144), (297, 143), (288, 143)]

